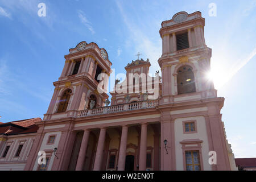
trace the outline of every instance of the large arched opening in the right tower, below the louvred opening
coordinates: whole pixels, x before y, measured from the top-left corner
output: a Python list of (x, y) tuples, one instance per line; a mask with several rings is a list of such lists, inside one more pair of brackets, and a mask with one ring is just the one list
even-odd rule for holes
[(195, 77), (191, 67), (184, 65), (177, 71), (178, 94), (196, 92)]

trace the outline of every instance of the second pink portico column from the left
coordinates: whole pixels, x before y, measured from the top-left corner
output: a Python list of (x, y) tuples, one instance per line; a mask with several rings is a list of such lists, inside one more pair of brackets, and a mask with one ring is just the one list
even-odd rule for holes
[(98, 137), (98, 146), (97, 146), (93, 171), (100, 171), (100, 169), (101, 169), (105, 137), (106, 137), (106, 129), (102, 128), (101, 132), (100, 132), (100, 137)]

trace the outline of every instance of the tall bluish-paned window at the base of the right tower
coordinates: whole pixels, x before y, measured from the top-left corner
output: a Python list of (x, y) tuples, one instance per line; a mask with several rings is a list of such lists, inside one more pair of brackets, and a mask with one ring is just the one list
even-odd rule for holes
[(187, 171), (201, 171), (199, 151), (186, 151), (186, 168)]

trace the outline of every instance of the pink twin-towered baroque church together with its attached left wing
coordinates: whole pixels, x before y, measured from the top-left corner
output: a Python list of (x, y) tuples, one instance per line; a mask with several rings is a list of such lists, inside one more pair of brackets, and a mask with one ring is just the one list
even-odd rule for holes
[(148, 76), (149, 60), (131, 61), (111, 102), (108, 52), (93, 42), (69, 49), (43, 120), (0, 123), (0, 170), (237, 170), (224, 98), (206, 76), (205, 19), (182, 11), (161, 25), (161, 77)]

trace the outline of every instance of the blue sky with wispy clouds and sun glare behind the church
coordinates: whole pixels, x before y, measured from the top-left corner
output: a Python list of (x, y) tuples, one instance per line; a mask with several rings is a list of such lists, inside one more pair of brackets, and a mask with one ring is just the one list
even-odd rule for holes
[[(38, 4), (46, 4), (46, 17)], [(217, 16), (209, 16), (209, 4)], [(256, 1), (0, 1), (0, 122), (41, 117), (64, 55), (81, 41), (109, 54), (116, 73), (137, 52), (159, 70), (160, 24), (179, 11), (201, 11), (226, 134), (236, 158), (256, 157)]]

